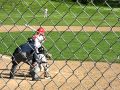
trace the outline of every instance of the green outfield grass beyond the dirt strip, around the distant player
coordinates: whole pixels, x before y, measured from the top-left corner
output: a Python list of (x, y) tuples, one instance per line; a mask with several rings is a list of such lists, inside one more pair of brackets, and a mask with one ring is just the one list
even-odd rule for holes
[[(120, 26), (120, 8), (84, 6), (72, 2), (54, 2), (51, 0), (0, 0), (1, 24), (24, 25), (92, 25)], [(49, 17), (43, 18), (45, 7)]]

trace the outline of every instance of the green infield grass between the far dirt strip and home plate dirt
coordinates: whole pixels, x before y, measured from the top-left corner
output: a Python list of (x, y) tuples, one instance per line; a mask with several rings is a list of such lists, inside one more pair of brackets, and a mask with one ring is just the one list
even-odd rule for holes
[[(0, 53), (11, 55), (32, 34), (0, 33)], [(47, 32), (44, 45), (55, 60), (120, 62), (119, 36), (120, 32)]]

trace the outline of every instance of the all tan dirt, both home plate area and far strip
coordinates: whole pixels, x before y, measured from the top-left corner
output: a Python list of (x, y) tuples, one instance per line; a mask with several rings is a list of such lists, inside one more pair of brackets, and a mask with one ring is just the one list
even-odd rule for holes
[[(44, 26), (43, 26), (44, 27)], [(33, 26), (38, 28), (38, 26)], [(96, 31), (96, 27), (45, 26), (47, 31)], [(24, 26), (1, 26), (0, 32), (27, 31)], [(120, 31), (120, 27), (99, 27), (97, 31)], [(0, 57), (0, 90), (120, 90), (120, 64), (103, 62), (53, 61), (49, 60), (51, 79), (31, 81), (29, 66), (21, 63), (15, 79), (9, 79), (10, 57)]]

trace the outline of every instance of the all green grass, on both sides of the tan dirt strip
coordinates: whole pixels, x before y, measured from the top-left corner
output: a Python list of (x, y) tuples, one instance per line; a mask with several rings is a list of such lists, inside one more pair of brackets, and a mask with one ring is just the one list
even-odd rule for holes
[[(120, 8), (52, 0), (1, 0), (2, 25), (120, 26)], [(43, 10), (48, 8), (48, 18)], [(29, 34), (28, 34), (29, 33)], [(11, 55), (31, 32), (0, 33), (0, 53)], [(45, 43), (54, 59), (110, 60), (120, 53), (119, 32), (48, 32)]]

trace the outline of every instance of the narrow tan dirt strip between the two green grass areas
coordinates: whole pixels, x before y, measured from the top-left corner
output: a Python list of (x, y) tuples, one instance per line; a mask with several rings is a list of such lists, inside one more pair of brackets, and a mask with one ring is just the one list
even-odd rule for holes
[[(38, 29), (39, 26), (32, 26), (34, 29)], [(46, 31), (83, 31), (83, 32), (107, 32), (107, 31), (120, 31), (120, 27), (93, 27), (93, 26), (43, 26)], [(26, 26), (18, 25), (1, 25), (0, 32), (14, 32), (14, 31), (32, 31)]]

